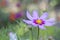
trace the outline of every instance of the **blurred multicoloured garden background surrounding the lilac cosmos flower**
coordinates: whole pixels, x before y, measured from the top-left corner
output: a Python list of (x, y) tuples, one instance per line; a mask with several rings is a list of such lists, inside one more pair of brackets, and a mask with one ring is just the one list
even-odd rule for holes
[[(60, 0), (0, 0), (0, 40), (30, 40), (30, 25), (22, 20), (26, 11), (39, 15), (48, 12), (48, 18), (55, 18), (56, 24), (40, 30), (39, 40), (60, 40)], [(33, 28), (33, 40), (37, 40), (37, 28)]]

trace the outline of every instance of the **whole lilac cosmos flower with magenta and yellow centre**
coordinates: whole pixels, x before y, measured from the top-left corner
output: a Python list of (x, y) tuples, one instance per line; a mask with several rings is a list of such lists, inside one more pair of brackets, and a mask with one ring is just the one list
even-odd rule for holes
[(47, 12), (43, 13), (43, 15), (41, 17), (39, 17), (37, 10), (33, 11), (32, 16), (27, 11), (26, 16), (29, 20), (23, 19), (23, 21), (25, 23), (33, 25), (34, 27), (39, 27), (40, 29), (46, 29), (45, 26), (53, 26), (55, 24), (54, 18), (47, 19), (47, 17), (48, 17)]

